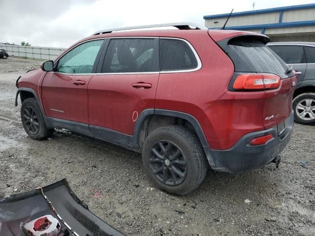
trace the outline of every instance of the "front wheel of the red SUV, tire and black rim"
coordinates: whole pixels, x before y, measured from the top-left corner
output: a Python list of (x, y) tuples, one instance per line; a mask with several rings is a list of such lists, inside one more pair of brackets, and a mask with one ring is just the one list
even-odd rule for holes
[(23, 101), (21, 120), (26, 133), (34, 140), (42, 140), (54, 132), (53, 129), (47, 128), (39, 105), (34, 98)]

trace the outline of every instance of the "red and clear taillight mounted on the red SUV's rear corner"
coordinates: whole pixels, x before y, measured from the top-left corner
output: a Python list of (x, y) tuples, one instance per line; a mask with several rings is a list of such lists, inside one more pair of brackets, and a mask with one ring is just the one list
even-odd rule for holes
[(280, 77), (274, 74), (240, 74), (236, 77), (233, 89), (277, 89)]

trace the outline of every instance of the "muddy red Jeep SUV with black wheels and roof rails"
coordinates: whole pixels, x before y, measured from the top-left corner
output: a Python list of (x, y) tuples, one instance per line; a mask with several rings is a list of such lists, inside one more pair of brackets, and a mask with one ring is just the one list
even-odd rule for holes
[(27, 134), (65, 128), (141, 152), (151, 180), (176, 194), (197, 188), (209, 165), (278, 164), (295, 72), (265, 35), (188, 25), (99, 31), (23, 75), (15, 105), (20, 94)]

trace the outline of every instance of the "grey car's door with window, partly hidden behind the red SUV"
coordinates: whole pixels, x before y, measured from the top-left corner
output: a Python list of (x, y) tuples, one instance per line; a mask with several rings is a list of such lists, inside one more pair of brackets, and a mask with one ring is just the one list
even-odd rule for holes
[[(269, 45), (268, 45), (269, 46)], [(298, 85), (302, 83), (306, 72), (306, 59), (303, 46), (270, 45), (269, 46), (286, 64), (289, 64), (298, 74)]]

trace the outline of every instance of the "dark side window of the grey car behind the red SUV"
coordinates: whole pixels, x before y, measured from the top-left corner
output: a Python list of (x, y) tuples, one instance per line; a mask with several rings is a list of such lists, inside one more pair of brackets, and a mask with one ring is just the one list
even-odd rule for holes
[(306, 63), (303, 46), (269, 46), (287, 64)]

